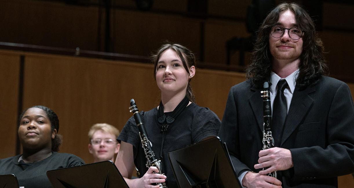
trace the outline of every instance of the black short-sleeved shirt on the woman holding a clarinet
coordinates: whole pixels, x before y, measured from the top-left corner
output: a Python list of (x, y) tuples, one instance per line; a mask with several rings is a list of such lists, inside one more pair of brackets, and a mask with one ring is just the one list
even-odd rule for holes
[[(140, 112), (144, 118), (144, 125), (152, 142), (156, 158), (160, 157), (161, 150), (161, 125), (157, 121), (158, 109), (153, 108), (147, 112)], [(167, 176), (166, 185), (169, 188), (178, 187), (168, 159), (168, 153), (176, 149), (197, 143), (209, 136), (216, 136), (220, 128), (220, 120), (209, 108), (200, 107), (194, 103), (188, 105), (175, 121), (169, 125), (164, 146), (162, 149), (162, 173)], [(117, 140), (133, 145), (134, 163), (142, 177), (148, 170), (146, 157), (142, 149), (139, 130), (134, 117), (125, 124)]]

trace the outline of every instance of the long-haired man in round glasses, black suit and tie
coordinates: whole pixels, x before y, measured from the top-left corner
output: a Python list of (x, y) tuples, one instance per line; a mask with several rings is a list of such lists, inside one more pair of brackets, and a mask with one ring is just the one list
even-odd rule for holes
[[(346, 83), (325, 76), (324, 46), (301, 6), (268, 14), (246, 72), (230, 89), (219, 131), (242, 186), (338, 187), (337, 176), (354, 171), (353, 99)], [(274, 147), (263, 150), (264, 82)]]

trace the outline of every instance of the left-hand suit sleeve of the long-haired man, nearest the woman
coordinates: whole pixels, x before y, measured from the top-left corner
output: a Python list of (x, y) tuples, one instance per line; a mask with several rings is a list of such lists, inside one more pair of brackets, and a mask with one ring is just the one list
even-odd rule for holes
[(235, 102), (235, 87), (232, 87), (227, 98), (224, 116), (218, 136), (226, 143), (230, 158), (238, 176), (244, 170), (251, 171), (247, 165), (239, 160), (240, 146), (239, 146), (239, 130), (238, 130), (238, 113), (237, 104)]

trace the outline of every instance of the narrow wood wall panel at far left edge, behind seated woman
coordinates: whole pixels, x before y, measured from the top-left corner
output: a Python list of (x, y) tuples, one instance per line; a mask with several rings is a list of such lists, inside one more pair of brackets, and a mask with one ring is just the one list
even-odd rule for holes
[(0, 159), (16, 154), (19, 62), (18, 53), (0, 52)]

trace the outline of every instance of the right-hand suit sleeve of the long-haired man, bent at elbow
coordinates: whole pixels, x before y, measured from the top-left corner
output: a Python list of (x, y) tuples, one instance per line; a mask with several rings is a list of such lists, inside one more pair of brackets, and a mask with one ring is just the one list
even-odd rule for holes
[[(290, 149), (294, 164), (293, 180), (329, 178), (354, 171), (354, 106), (347, 84), (341, 82), (327, 115), (327, 147)], [(304, 179), (305, 178), (305, 179)]]

